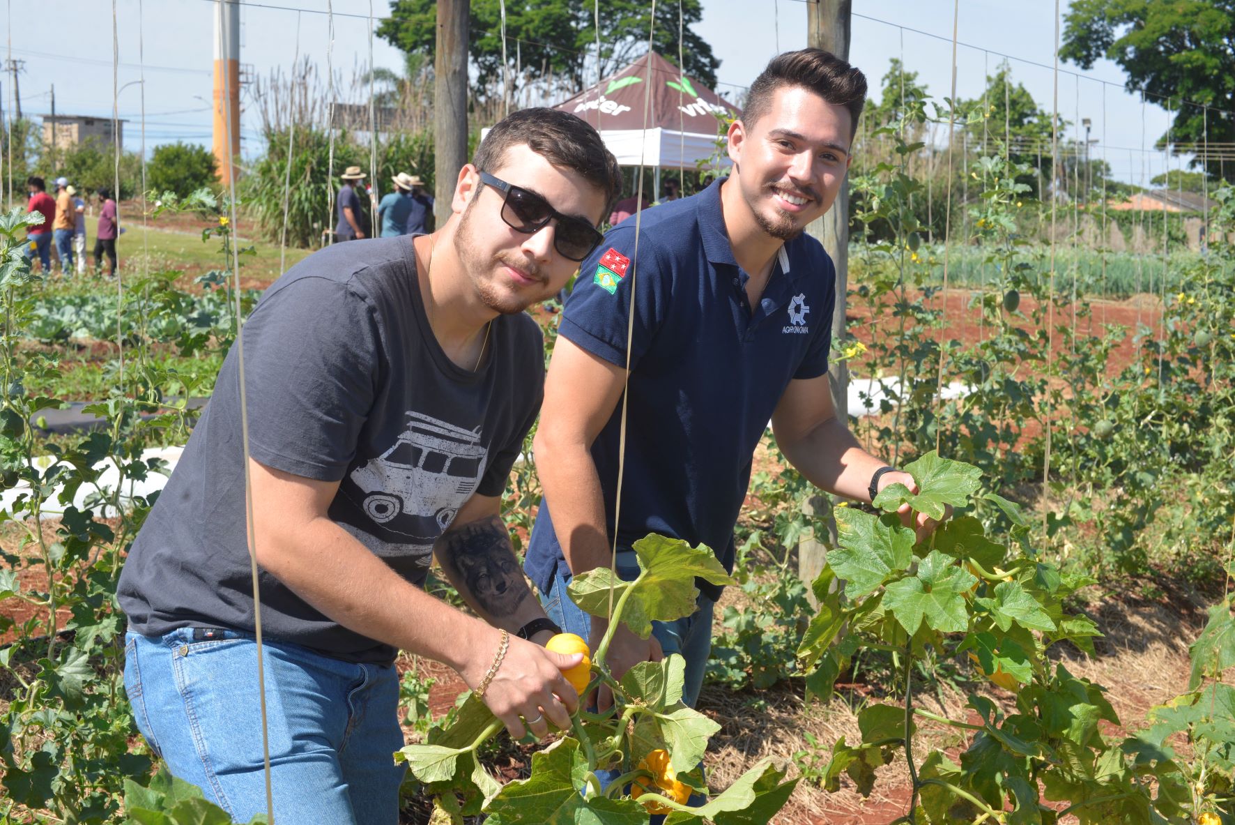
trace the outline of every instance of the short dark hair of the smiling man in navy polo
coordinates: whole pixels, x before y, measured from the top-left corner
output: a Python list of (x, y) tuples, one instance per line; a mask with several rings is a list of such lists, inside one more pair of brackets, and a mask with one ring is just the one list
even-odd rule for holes
[(741, 120), (747, 128), (767, 114), (772, 96), (783, 86), (802, 86), (835, 106), (845, 106), (852, 121), (850, 140), (853, 140), (866, 105), (866, 75), (861, 69), (821, 48), (777, 54), (755, 78), (746, 95)]

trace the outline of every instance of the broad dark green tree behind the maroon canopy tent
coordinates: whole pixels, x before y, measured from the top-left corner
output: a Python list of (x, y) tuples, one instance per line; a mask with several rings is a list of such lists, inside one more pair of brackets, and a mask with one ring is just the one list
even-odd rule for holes
[[(540, 0), (506, 4), (506, 64), (511, 85), (553, 84), (551, 94), (583, 89), (594, 83), (597, 27), (590, 0)], [(600, 16), (600, 74), (621, 69), (647, 48), (651, 19), (646, 2), (606, 0)], [(391, 0), (390, 17), (377, 33), (408, 54), (421, 54), (432, 64), (436, 48), (436, 2), (433, 0)], [(682, 51), (685, 72), (708, 86), (716, 83), (720, 61), (711, 47), (690, 30), (703, 17), (701, 0), (682, 1)], [(500, 98), (501, 9), (499, 0), (472, 0), (468, 53), (477, 73), (478, 86), (496, 86)], [(517, 58), (516, 58), (517, 47)], [(652, 48), (671, 63), (678, 63), (678, 9), (657, 6)], [(516, 61), (521, 77), (515, 77)], [(513, 90), (514, 90), (513, 89)]]

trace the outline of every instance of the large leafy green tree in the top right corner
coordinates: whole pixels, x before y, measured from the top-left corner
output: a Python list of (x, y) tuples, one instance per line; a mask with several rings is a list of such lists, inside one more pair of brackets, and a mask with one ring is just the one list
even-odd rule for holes
[[(1084, 69), (1103, 57), (1118, 63), (1131, 88), (1156, 95), (1156, 103), (1174, 110), (1173, 142), (1200, 144), (1208, 135), (1212, 143), (1229, 143), (1235, 141), (1231, 32), (1231, 0), (1074, 0), (1065, 15), (1060, 57)], [(1165, 146), (1166, 137), (1158, 138), (1158, 146)], [(1192, 152), (1192, 147), (1173, 151)], [(1235, 182), (1235, 163), (1218, 158), (1191, 163), (1205, 165), (1210, 177)]]

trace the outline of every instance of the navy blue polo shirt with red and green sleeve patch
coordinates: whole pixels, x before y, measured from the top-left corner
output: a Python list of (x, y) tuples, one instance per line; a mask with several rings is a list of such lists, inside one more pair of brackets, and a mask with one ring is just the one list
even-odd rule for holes
[[(618, 545), (650, 532), (713, 548), (734, 567), (734, 525), (751, 458), (790, 380), (827, 372), (835, 270), (803, 233), (777, 254), (757, 305), (734, 259), (720, 210), (727, 178), (614, 227), (583, 262), (559, 333), (625, 367), (635, 284), (626, 469)], [(636, 273), (637, 267), (637, 273)], [(613, 530), (621, 401), (592, 447)], [(542, 503), (525, 568), (541, 592), (564, 566)], [(700, 582), (716, 598), (720, 588)]]

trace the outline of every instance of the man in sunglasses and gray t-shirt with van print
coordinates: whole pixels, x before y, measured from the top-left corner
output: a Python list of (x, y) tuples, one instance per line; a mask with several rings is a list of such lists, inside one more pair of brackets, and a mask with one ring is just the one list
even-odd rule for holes
[[(394, 825), (399, 650), (453, 667), (516, 737), (569, 726), (579, 656), (541, 647), (556, 627), (500, 503), (543, 387), (521, 310), (599, 243), (619, 186), (595, 130), (521, 110), (438, 232), (317, 252), (245, 324), (117, 590), (138, 729), (235, 820), (267, 811), (264, 729), (275, 821)], [(433, 556), (479, 619), (424, 592)]]

